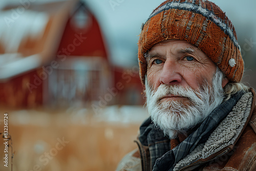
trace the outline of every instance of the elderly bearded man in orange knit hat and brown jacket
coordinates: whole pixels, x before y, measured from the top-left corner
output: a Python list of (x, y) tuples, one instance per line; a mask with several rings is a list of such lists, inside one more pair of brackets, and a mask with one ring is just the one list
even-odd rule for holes
[(140, 77), (150, 118), (117, 170), (256, 170), (255, 93), (225, 13), (168, 0), (142, 26)]

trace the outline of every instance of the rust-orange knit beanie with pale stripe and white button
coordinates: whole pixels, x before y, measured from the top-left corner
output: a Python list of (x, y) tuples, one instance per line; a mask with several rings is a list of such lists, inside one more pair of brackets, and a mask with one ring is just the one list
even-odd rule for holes
[(214, 3), (207, 0), (168, 0), (152, 12), (142, 25), (138, 42), (143, 84), (147, 70), (144, 54), (166, 39), (187, 40), (201, 49), (230, 82), (241, 80), (244, 61), (236, 31), (225, 13)]

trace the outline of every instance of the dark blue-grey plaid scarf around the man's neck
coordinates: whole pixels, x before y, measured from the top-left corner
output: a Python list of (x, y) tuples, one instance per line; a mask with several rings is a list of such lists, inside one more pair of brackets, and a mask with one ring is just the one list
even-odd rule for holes
[(169, 139), (164, 136), (162, 130), (155, 129), (151, 118), (145, 120), (140, 126), (139, 140), (149, 147), (153, 170), (173, 170), (175, 165), (191, 153), (197, 145), (205, 143), (243, 94), (244, 92), (238, 92), (221, 103), (193, 133), (171, 151)]

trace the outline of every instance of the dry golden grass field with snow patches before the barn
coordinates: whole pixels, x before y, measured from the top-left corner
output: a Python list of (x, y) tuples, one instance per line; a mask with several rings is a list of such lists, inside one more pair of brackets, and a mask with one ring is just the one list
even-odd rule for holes
[[(115, 170), (136, 148), (133, 140), (147, 117), (142, 106), (110, 106), (97, 115), (87, 109), (0, 112), (1, 132), (8, 112), (12, 167), (17, 171)], [(1, 138), (0, 170), (11, 170), (10, 146), (8, 167), (4, 166), (4, 142)]]

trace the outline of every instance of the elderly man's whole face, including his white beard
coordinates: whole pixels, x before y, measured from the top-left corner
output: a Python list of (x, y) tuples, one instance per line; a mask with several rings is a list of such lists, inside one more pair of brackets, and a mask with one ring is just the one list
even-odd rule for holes
[(200, 123), (223, 101), (222, 73), (185, 40), (165, 40), (146, 55), (147, 109), (169, 136)]

